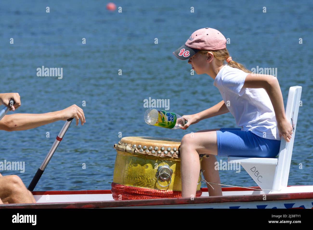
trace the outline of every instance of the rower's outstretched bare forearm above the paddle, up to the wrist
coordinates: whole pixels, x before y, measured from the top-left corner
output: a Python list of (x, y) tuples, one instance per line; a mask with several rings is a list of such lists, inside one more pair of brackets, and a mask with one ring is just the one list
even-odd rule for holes
[(41, 125), (46, 125), (57, 120), (62, 120), (59, 111), (42, 113), (42, 114), (29, 114), (17, 113), (5, 115), (0, 120), (0, 130), (5, 131), (18, 131), (36, 128)]

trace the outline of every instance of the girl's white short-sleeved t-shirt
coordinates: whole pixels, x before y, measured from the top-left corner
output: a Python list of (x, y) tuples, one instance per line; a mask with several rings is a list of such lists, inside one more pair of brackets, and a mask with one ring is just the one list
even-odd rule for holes
[(279, 137), (274, 108), (269, 95), (263, 88), (243, 88), (248, 73), (224, 65), (214, 79), (229, 112), (234, 116), (241, 130), (271, 140)]

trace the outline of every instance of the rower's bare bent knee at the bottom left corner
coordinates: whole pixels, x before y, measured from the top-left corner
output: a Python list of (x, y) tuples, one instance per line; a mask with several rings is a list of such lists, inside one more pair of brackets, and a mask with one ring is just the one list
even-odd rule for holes
[(0, 188), (3, 203), (36, 203), (31, 192), (16, 175), (1, 176)]

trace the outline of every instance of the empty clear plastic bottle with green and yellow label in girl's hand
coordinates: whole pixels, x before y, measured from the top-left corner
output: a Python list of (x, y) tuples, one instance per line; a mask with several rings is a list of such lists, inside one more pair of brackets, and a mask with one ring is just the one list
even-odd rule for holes
[(168, 129), (181, 129), (187, 124), (187, 119), (176, 113), (164, 110), (147, 109), (144, 119), (148, 125), (156, 125)]

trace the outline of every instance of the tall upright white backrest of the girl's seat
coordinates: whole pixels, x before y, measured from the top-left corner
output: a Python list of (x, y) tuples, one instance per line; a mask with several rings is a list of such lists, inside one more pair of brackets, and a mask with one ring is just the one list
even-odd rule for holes
[(293, 128), (290, 142), (281, 137), (280, 150), (278, 156), (278, 163), (274, 175), (273, 190), (280, 190), (282, 187), (287, 187), (290, 162), (293, 144), (295, 141), (296, 125), (298, 120), (298, 112), (300, 106), (302, 87), (292, 86), (289, 89), (288, 100), (286, 105), (286, 118), (290, 121)]

